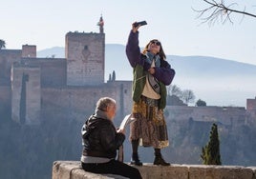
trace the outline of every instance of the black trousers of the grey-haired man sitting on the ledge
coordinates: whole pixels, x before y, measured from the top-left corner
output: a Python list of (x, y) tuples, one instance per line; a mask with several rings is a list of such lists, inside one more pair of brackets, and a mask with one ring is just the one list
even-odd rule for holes
[(108, 163), (103, 164), (84, 164), (82, 163), (82, 168), (89, 172), (95, 173), (105, 173), (105, 174), (117, 174), (133, 179), (141, 179), (139, 169), (133, 168), (119, 162), (117, 160), (111, 160)]

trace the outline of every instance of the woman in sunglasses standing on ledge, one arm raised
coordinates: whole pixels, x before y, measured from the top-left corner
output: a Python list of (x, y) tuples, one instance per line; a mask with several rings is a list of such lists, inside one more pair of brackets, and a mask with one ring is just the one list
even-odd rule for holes
[(166, 86), (171, 84), (175, 70), (165, 60), (159, 40), (151, 40), (140, 52), (139, 28), (136, 23), (132, 25), (126, 45), (126, 55), (134, 69), (132, 113), (136, 121), (130, 126), (131, 164), (142, 166), (138, 154), (141, 145), (154, 148), (154, 165), (169, 166), (160, 149), (169, 146), (163, 109), (166, 106)]

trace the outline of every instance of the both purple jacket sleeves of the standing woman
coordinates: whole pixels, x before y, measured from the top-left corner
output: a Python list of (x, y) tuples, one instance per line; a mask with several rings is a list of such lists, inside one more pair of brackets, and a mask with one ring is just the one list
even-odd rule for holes
[[(143, 70), (150, 69), (151, 64), (145, 61), (146, 56), (141, 54), (139, 49), (139, 31), (134, 33), (131, 30), (126, 45), (126, 55), (130, 65), (133, 68), (135, 68), (137, 65), (140, 65), (143, 67)], [(170, 64), (166, 60), (160, 59), (160, 67), (155, 67), (155, 73), (153, 76), (162, 82), (165, 86), (168, 86), (173, 81), (175, 70), (171, 69)]]

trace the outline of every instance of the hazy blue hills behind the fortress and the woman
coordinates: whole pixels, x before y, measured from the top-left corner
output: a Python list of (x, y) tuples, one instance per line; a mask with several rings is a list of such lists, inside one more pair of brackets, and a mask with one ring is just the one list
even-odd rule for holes
[[(65, 58), (65, 49), (40, 50), (38, 57)], [(105, 48), (105, 80), (115, 70), (117, 80), (132, 80), (132, 68), (125, 46), (107, 44)], [(209, 56), (167, 55), (176, 70), (173, 85), (192, 89), (209, 106), (245, 107), (246, 98), (256, 96), (256, 66)]]

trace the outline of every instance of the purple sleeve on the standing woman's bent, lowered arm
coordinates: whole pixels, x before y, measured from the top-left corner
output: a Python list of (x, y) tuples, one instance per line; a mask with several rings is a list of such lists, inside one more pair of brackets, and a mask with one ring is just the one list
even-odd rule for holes
[(155, 67), (155, 74), (153, 76), (167, 86), (172, 83), (175, 73), (175, 70), (171, 68), (167, 61), (161, 60), (160, 67)]

